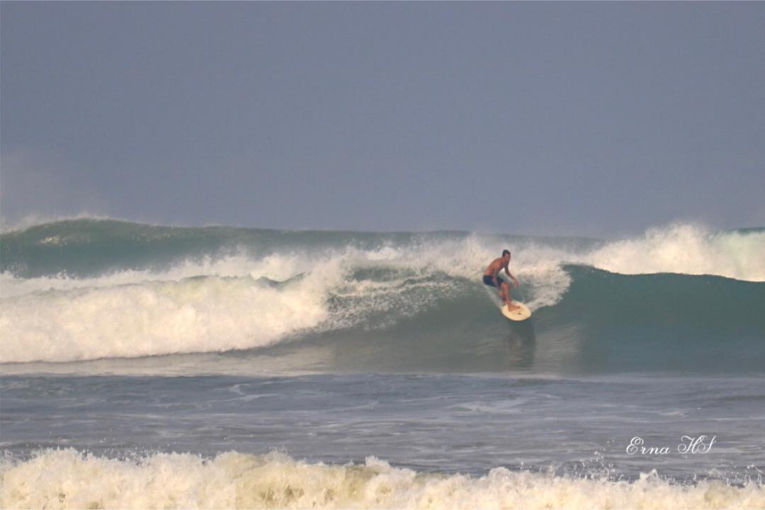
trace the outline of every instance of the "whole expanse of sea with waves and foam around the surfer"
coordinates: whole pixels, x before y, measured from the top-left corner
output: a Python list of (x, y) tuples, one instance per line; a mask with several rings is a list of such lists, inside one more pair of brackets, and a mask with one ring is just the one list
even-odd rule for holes
[(2, 508), (765, 508), (765, 229), (73, 219), (0, 271)]

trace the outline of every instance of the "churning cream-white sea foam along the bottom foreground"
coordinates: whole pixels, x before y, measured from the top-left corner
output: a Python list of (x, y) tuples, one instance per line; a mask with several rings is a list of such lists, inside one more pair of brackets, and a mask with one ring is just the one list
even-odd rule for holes
[(156, 453), (138, 462), (48, 450), (0, 465), (2, 508), (763, 508), (765, 488), (721, 481), (675, 485), (495, 468), (486, 476), (305, 463), (279, 453), (211, 460)]

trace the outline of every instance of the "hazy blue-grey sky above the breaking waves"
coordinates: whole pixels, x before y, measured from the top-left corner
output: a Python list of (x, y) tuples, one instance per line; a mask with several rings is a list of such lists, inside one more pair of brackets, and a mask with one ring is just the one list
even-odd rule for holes
[(2, 2), (0, 216), (765, 226), (765, 2)]

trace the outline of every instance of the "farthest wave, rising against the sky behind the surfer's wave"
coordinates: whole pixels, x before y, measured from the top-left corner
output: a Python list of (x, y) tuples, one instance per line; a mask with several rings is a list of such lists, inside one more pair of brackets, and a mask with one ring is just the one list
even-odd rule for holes
[(605, 241), (477, 232), (172, 227), (71, 219), (5, 232), (0, 239), (0, 273), (5, 278), (97, 278), (121, 271), (168, 271), (191, 262), (206, 271), (210, 261), (233, 256), (258, 260), (267, 255), (348, 249), (412, 268), (435, 263), (448, 267), (450, 274), (473, 278), (498, 252), (511, 248), (513, 267), (520, 271), (538, 263), (580, 264), (620, 274), (713, 274), (765, 281), (765, 229), (720, 232), (692, 223), (654, 227), (643, 236)]

